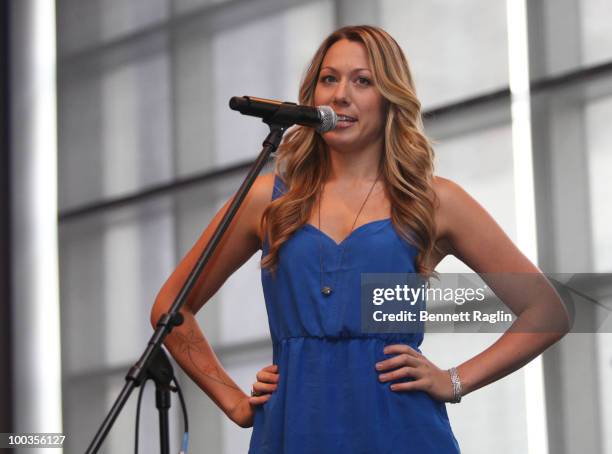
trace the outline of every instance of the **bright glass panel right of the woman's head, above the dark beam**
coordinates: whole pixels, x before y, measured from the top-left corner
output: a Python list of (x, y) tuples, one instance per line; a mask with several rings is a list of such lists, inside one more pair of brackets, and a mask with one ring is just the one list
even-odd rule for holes
[(508, 85), (506, 2), (381, 0), (380, 7), (424, 107)]

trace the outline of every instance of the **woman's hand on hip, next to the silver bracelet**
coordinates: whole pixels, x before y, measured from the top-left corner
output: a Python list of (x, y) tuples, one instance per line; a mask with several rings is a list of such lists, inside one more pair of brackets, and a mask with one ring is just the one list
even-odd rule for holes
[(386, 355), (395, 355), (376, 363), (383, 383), (412, 378), (413, 381), (392, 383), (392, 391), (425, 391), (431, 397), (443, 402), (453, 400), (453, 385), (448, 371), (438, 368), (421, 353), (406, 344), (387, 345)]

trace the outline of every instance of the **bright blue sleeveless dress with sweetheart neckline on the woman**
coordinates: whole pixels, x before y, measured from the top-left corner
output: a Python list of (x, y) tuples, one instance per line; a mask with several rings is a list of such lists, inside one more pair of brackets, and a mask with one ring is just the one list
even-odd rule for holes
[[(285, 190), (276, 176), (272, 199)], [(324, 283), (335, 283), (329, 296), (320, 291), (319, 241)], [(394, 356), (384, 347), (418, 350), (423, 333), (360, 330), (361, 273), (414, 272), (416, 255), (390, 219), (364, 224), (340, 244), (305, 224), (281, 246), (276, 278), (261, 274), (280, 380), (256, 407), (249, 454), (459, 452), (443, 402), (378, 379), (375, 364)]]

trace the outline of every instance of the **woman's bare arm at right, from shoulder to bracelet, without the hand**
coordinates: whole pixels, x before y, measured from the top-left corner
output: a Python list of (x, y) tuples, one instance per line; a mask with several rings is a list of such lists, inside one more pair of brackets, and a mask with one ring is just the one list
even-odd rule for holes
[(569, 318), (540, 270), (493, 218), (457, 184), (437, 180), (437, 220), (448, 252), (477, 273), (493, 273), (484, 279), (517, 315), (511, 328), (493, 345), (457, 367), (463, 393), (467, 394), (541, 354), (568, 332)]

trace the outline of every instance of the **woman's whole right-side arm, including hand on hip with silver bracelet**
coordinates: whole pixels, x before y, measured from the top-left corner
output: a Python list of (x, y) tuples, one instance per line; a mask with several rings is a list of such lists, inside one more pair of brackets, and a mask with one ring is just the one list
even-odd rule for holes
[[(435, 190), (440, 204), (434, 264), (453, 254), (477, 273), (488, 273), (483, 279), (518, 316), (493, 345), (457, 367), (465, 395), (527, 364), (567, 333), (569, 320), (548, 281), (473, 198), (444, 178), (436, 178)], [(384, 353), (394, 356), (376, 364), (380, 381), (414, 378), (391, 384), (392, 391), (422, 390), (452, 401), (447, 371), (409, 345), (387, 345)]]

